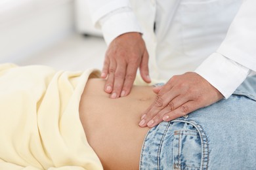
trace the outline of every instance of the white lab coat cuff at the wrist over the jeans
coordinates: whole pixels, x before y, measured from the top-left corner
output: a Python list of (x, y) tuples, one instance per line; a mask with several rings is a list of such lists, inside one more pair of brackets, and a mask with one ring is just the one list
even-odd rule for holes
[(244, 82), (250, 70), (219, 53), (213, 53), (195, 72), (219, 90), (225, 99), (228, 99)]

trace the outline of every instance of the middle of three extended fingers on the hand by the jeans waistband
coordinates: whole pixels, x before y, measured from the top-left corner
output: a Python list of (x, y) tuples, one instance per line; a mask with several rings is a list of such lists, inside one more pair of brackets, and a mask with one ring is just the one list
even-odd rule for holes
[(172, 101), (170, 101), (165, 108), (160, 110), (160, 112), (158, 112), (158, 114), (156, 114), (156, 116), (154, 116), (152, 120), (149, 120), (147, 126), (154, 127), (160, 124), (160, 122), (163, 122), (163, 116), (165, 114), (167, 114), (168, 112), (172, 112), (173, 110), (177, 109), (186, 102), (188, 102), (188, 98), (186, 96), (178, 95)]

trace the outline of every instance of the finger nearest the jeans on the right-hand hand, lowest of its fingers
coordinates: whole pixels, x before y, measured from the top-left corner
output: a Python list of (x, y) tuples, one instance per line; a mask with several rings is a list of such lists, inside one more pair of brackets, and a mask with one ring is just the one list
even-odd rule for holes
[(178, 107), (177, 109), (168, 112), (163, 116), (163, 121), (171, 121), (174, 120), (175, 118), (179, 118), (181, 116), (185, 116), (186, 114), (189, 114), (190, 112), (199, 109), (200, 106), (196, 101), (188, 101)]

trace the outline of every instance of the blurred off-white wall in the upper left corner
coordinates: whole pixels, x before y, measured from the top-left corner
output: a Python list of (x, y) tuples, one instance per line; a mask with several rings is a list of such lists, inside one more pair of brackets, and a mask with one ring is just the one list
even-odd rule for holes
[(1, 0), (0, 63), (15, 62), (74, 33), (72, 0)]

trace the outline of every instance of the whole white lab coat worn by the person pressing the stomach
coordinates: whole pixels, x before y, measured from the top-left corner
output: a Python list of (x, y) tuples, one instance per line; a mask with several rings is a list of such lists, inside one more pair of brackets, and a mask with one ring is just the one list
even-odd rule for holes
[(89, 7), (107, 44), (143, 33), (152, 78), (195, 71), (228, 98), (256, 71), (255, 0), (89, 0)]

